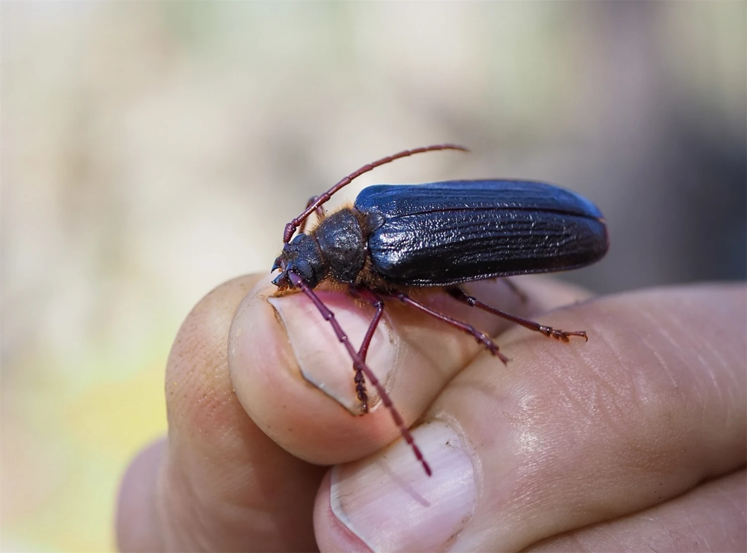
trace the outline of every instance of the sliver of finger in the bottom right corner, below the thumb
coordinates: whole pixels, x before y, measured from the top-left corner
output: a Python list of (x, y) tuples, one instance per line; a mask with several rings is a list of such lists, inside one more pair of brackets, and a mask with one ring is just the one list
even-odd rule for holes
[(657, 507), (568, 532), (524, 553), (713, 553), (747, 544), (747, 469), (707, 482)]

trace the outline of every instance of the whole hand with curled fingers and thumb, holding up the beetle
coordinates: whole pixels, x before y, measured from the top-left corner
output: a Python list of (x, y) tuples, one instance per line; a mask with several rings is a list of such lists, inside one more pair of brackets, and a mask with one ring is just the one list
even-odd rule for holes
[[(368, 360), (433, 478), (371, 386), (368, 415), (342, 406), (352, 363), (306, 296), (268, 302), (267, 275), (213, 290), (167, 363), (168, 436), (123, 479), (120, 549), (747, 551), (747, 285), (590, 298), (515, 283), (528, 302), (502, 281), (468, 290), (588, 343), (423, 296), (496, 337), (503, 366), (387, 302)], [(360, 343), (371, 307), (322, 294)]]

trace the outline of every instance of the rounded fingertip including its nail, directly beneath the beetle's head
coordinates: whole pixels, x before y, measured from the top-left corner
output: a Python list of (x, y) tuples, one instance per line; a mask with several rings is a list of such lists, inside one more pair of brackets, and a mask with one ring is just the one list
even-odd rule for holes
[[(396, 436), (369, 397), (361, 413), (352, 360), (328, 323), (301, 293), (275, 295), (269, 279), (249, 293), (229, 334), (229, 366), (236, 395), (265, 434), (311, 463), (332, 464), (367, 454)], [(368, 311), (347, 293), (320, 291), (353, 343), (368, 328)], [(394, 338), (384, 330), (372, 342), (371, 364), (386, 381)], [(382, 371), (382, 372), (379, 372)], [(369, 390), (371, 392), (371, 390)], [(356, 415), (356, 416), (353, 416)]]

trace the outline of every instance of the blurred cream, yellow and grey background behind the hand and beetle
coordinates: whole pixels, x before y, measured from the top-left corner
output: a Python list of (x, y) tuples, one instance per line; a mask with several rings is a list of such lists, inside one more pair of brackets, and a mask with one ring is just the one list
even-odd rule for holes
[(518, 177), (595, 201), (599, 293), (747, 276), (747, 2), (0, 3), (0, 546), (114, 549), (201, 296), (309, 196)]

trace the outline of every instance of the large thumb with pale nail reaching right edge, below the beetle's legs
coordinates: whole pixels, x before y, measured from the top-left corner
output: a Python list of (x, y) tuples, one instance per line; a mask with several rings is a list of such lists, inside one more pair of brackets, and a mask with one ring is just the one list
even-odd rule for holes
[[(340, 551), (515, 552), (665, 502), (747, 463), (747, 288), (702, 286), (598, 299), (549, 316), (587, 325), (557, 347), (504, 335), (515, 362), (460, 372), (413, 434), (332, 470), (317, 540)], [(593, 334), (592, 334), (593, 332)], [(333, 516), (330, 516), (333, 513)]]

